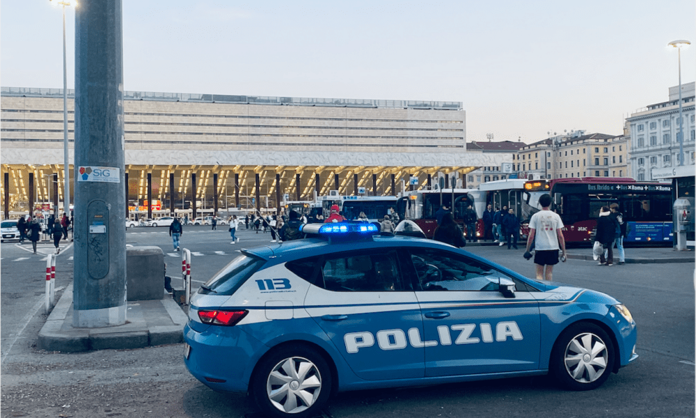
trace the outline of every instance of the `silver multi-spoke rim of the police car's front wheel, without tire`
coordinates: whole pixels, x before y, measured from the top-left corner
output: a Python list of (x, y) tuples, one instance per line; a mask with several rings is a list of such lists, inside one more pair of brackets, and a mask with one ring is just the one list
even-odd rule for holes
[(608, 350), (599, 336), (587, 332), (568, 343), (563, 362), (568, 374), (580, 383), (592, 383), (607, 368)]

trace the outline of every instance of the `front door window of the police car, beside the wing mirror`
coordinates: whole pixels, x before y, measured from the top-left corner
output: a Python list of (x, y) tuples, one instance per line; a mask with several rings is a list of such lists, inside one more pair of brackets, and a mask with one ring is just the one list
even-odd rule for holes
[(439, 249), (411, 249), (411, 262), (424, 291), (498, 291), (501, 277), (479, 261)]

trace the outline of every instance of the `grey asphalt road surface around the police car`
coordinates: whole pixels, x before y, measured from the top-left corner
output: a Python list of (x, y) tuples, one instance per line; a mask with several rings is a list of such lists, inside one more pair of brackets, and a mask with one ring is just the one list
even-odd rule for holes
[[(243, 247), (270, 234), (242, 229), (231, 245), (226, 226), (186, 227), (181, 247), (192, 253), (193, 286), (212, 277)], [(68, 245), (70, 242), (68, 242)], [(164, 249), (167, 272), (181, 286), (180, 254), (166, 228), (135, 228), (128, 245)], [(45, 261), (14, 242), (0, 246), (1, 417), (244, 417), (246, 396), (219, 394), (193, 379), (182, 345), (62, 354), (35, 349), (42, 312)], [(40, 251), (53, 251), (52, 245)], [(533, 276), (522, 250), (468, 247)], [(628, 250), (627, 250), (628, 251)], [(170, 255), (171, 254), (171, 255)], [(72, 249), (58, 256), (56, 287), (72, 279)], [(21, 258), (21, 259), (20, 259)], [(694, 264), (626, 264), (598, 267), (569, 259), (555, 281), (609, 293), (638, 323), (639, 359), (590, 392), (566, 392), (545, 376), (339, 394), (333, 417), (694, 417)]]

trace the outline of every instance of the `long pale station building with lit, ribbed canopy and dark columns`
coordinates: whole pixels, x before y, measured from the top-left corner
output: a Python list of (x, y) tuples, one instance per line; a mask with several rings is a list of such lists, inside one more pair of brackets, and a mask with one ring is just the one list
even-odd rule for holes
[[(53, 202), (63, 211), (63, 90), (0, 95), (5, 216)], [(69, 90), (71, 166), (73, 99)], [(466, 187), (467, 173), (513, 154), (467, 150), (461, 102), (125, 91), (124, 127), (132, 212), (278, 208), (330, 190), (396, 195), (441, 178)]]

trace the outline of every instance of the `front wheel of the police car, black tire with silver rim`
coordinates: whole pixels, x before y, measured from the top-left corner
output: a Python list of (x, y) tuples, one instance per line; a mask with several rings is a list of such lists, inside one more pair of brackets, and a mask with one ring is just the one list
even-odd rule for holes
[(592, 390), (606, 382), (614, 361), (614, 344), (601, 327), (575, 323), (558, 336), (549, 367), (562, 387)]

